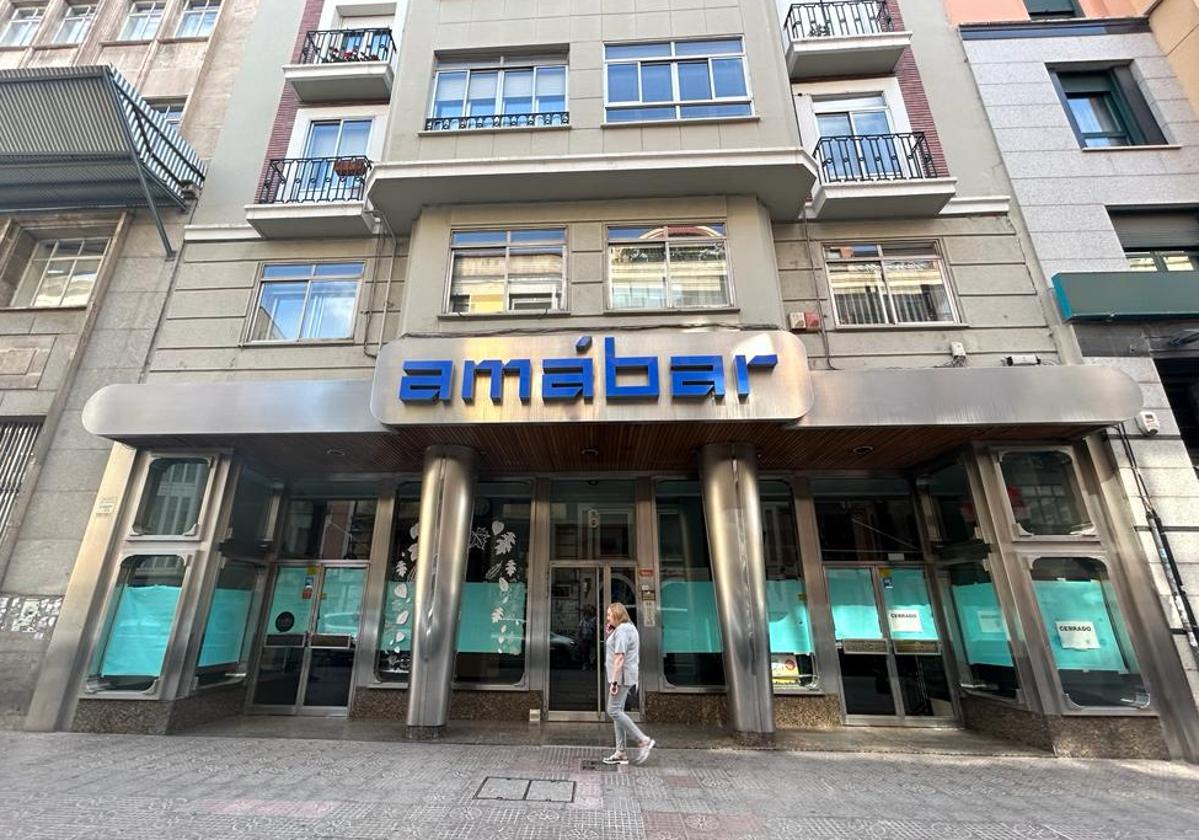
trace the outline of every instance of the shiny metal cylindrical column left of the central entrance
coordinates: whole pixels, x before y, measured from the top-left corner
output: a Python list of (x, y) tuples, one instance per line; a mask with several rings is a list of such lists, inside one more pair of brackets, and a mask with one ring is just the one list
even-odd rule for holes
[(426, 449), (414, 572), (409, 737), (436, 737), (450, 713), (458, 610), (474, 507), (475, 452), (462, 446)]

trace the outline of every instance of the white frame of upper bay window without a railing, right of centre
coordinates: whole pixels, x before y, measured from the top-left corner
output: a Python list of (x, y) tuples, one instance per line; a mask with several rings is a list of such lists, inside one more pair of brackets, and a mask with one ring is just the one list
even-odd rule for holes
[[(695, 55), (677, 55), (677, 46), (680, 43), (687, 43), (691, 41), (740, 41), (741, 52), (740, 53), (710, 53), (710, 54), (695, 54)], [(661, 56), (645, 56), (635, 59), (609, 59), (608, 48), (609, 47), (633, 47), (637, 44), (653, 44), (664, 43), (669, 44), (670, 54)], [(671, 123), (671, 122), (704, 122), (704, 121), (722, 121), (722, 120), (748, 120), (757, 116), (757, 110), (753, 103), (753, 84), (749, 78), (749, 58), (746, 53), (745, 36), (742, 35), (728, 35), (728, 36), (707, 36), (703, 38), (674, 38), (674, 40), (653, 40), (653, 41), (616, 41), (616, 42), (604, 42), (603, 47), (603, 67), (602, 67), (602, 83), (603, 83), (603, 125), (604, 126), (637, 126), (637, 125), (657, 125), (657, 123)], [(745, 96), (716, 96), (716, 83), (712, 74), (712, 61), (717, 59), (741, 59), (741, 71), (745, 75), (746, 93)], [(679, 98), (679, 62), (680, 61), (707, 61), (707, 78), (712, 81), (712, 98), (710, 99), (680, 99)], [(641, 65), (643, 64), (663, 64), (670, 62), (670, 102), (645, 102), (644, 99), (638, 99), (637, 102), (611, 102), (608, 95), (608, 68), (611, 65), (627, 65), (634, 64), (637, 66), (637, 91), (638, 97), (641, 96)], [(749, 105), (748, 114), (739, 114), (735, 116), (682, 116), (681, 108), (685, 107), (704, 107), (704, 105), (735, 105), (735, 104), (747, 104)], [(609, 120), (609, 110), (634, 110), (643, 108), (674, 108), (675, 115), (669, 120)]]

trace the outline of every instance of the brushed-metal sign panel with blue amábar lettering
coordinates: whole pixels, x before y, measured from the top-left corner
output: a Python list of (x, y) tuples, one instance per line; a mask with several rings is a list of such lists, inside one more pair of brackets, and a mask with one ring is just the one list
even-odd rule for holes
[(390, 425), (789, 422), (811, 407), (803, 345), (783, 331), (402, 338), (370, 394)]

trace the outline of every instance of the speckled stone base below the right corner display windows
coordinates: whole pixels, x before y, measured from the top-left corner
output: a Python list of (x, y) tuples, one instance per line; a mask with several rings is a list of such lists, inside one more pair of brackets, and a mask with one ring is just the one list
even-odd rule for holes
[(1152, 717), (1040, 715), (976, 695), (962, 697), (966, 729), (1071, 759), (1169, 759)]

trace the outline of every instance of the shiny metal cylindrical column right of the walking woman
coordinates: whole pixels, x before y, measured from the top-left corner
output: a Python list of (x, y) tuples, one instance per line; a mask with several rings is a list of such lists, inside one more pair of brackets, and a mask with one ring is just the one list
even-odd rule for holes
[(775, 732), (775, 708), (753, 445), (709, 443), (699, 453), (699, 477), (733, 729), (745, 738), (769, 741)]

